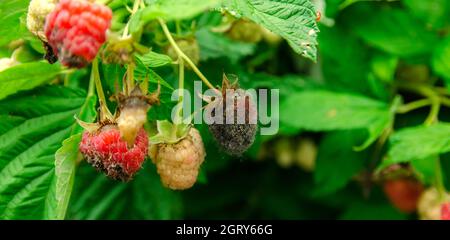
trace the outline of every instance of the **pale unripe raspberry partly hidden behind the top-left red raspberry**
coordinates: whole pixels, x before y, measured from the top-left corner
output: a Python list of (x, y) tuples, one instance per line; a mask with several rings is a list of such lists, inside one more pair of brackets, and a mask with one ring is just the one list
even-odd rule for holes
[(53, 11), (57, 0), (31, 0), (28, 5), (27, 28), (42, 41), (47, 41), (45, 36), (45, 18)]

